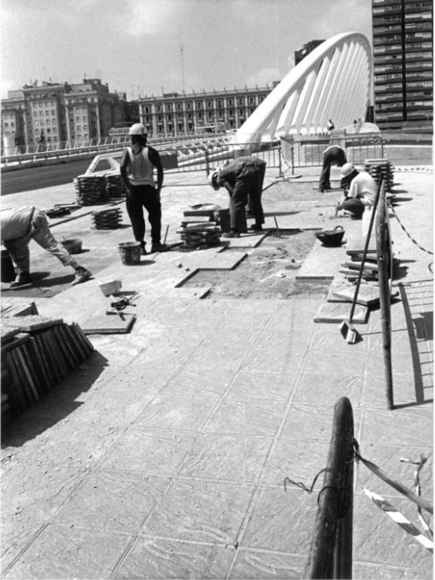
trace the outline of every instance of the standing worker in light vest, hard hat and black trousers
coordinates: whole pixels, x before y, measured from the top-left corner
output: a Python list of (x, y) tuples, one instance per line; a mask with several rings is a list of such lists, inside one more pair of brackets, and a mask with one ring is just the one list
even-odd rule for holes
[[(163, 185), (163, 167), (158, 151), (147, 146), (147, 132), (140, 123), (130, 127), (131, 147), (124, 150), (121, 160), (121, 176), (127, 187), (126, 208), (133, 228), (134, 239), (141, 242), (141, 253), (145, 249), (145, 220), (143, 207), (148, 211), (151, 224), (151, 251), (163, 252), (169, 249), (161, 244), (161, 201), (160, 192)], [(154, 182), (154, 169), (157, 172), (157, 183)]]

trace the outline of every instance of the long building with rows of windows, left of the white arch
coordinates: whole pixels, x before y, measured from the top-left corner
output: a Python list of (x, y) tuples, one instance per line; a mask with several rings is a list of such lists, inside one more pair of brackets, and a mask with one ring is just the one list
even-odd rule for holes
[(181, 137), (237, 130), (274, 86), (202, 93), (163, 93), (139, 99), (140, 122), (150, 137)]

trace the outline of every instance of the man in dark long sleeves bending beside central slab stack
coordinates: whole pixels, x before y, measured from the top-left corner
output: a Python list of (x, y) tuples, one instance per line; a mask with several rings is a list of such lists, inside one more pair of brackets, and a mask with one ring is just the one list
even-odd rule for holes
[(220, 170), (209, 173), (208, 182), (215, 191), (222, 185), (230, 195), (230, 231), (223, 237), (240, 237), (240, 226), (244, 217), (248, 195), (252, 204), (255, 223), (250, 226), (252, 231), (263, 229), (264, 214), (261, 205), (266, 161), (258, 157), (237, 157)]

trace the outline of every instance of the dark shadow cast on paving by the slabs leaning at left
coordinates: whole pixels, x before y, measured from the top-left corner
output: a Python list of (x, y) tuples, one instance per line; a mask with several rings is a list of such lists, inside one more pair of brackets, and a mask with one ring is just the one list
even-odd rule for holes
[[(10, 419), (2, 429), (1, 448), (7, 448), (9, 445), (19, 447), (78, 410), (84, 402), (76, 399), (89, 391), (107, 366), (108, 359), (98, 351), (94, 351), (38, 402)], [(64, 384), (67, 388), (64, 388)]]

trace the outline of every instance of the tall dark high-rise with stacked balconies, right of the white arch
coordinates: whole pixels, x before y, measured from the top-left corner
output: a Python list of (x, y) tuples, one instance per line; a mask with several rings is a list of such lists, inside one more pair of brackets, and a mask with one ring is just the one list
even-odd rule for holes
[(375, 123), (432, 126), (432, 0), (372, 0)]

